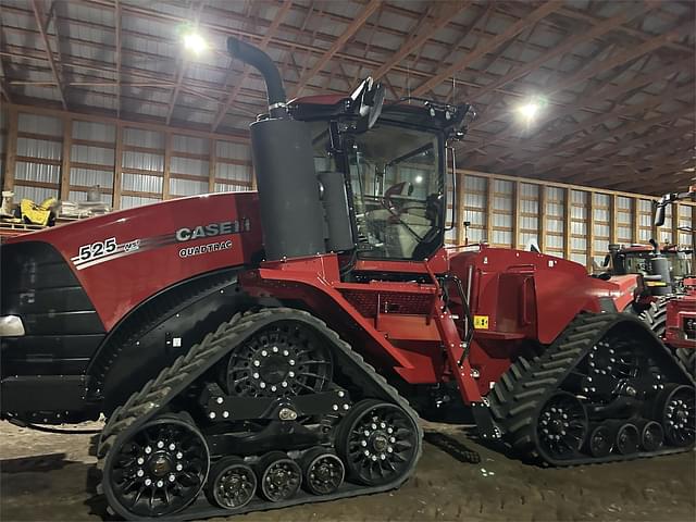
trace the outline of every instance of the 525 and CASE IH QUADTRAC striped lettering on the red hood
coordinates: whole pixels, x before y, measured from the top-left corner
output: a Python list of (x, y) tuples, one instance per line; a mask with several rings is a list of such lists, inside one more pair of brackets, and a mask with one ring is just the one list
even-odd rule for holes
[[(195, 225), (191, 227), (183, 227), (178, 231), (164, 234), (161, 236), (153, 236), (148, 238), (130, 239), (125, 243), (119, 243), (115, 237), (109, 237), (103, 240), (82, 245), (77, 249), (77, 256), (71, 258), (73, 265), (76, 270), (88, 269), (96, 264), (105, 263), (113, 259), (123, 258), (124, 256), (130, 256), (154, 248), (165, 247), (167, 245), (177, 245), (187, 241), (194, 241), (197, 239), (203, 239), (207, 237), (227, 236), (232, 234), (239, 234), (240, 232), (249, 232), (249, 220), (244, 219), (241, 223), (238, 221), (224, 221), (216, 223), (208, 223), (206, 225)], [(200, 256), (210, 252), (216, 252), (220, 250), (229, 250), (232, 248), (232, 240), (220, 240), (215, 243), (209, 243), (207, 245), (197, 245), (194, 247), (186, 247), (178, 250), (179, 258), (189, 258), (194, 256)]]

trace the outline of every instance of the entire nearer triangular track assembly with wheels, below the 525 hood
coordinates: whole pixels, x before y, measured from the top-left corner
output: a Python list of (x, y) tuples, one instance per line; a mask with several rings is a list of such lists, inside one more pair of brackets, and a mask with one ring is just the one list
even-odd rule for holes
[(127, 520), (334, 500), (398, 487), (422, 437), (407, 401), (335, 332), (265, 309), (222, 324), (113, 412), (98, 490)]

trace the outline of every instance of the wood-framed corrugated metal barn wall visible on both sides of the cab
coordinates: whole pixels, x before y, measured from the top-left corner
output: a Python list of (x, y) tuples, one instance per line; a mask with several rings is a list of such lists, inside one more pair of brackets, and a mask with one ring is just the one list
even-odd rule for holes
[[(164, 125), (5, 104), (0, 110), (0, 172), (15, 198), (82, 200), (99, 186), (114, 209), (163, 199), (254, 188), (250, 149), (241, 137)], [(4, 172), (4, 171), (8, 172)], [(696, 204), (667, 209), (652, 226), (655, 197), (459, 170), (447, 173), (450, 245), (487, 241), (572, 259), (593, 269), (608, 245), (691, 245), (680, 231), (696, 222)], [(455, 201), (456, 190), (456, 201)], [(457, 204), (455, 204), (457, 203)], [(464, 226), (468, 223), (468, 226)]]

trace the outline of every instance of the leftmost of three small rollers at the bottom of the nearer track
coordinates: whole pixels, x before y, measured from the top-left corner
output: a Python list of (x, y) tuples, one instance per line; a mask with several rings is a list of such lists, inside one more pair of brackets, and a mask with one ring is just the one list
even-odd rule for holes
[(226, 457), (213, 465), (206, 487), (211, 504), (223, 509), (238, 509), (253, 498), (257, 475), (249, 464), (238, 457)]

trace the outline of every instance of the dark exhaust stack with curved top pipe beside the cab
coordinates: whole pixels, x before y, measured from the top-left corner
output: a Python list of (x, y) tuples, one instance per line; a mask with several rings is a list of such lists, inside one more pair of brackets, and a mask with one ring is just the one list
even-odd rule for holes
[(309, 125), (285, 110), (281, 74), (265, 52), (235, 38), (227, 40), (227, 49), (259, 70), (269, 94), (269, 117), (249, 126), (265, 259), (324, 253), (324, 211)]

